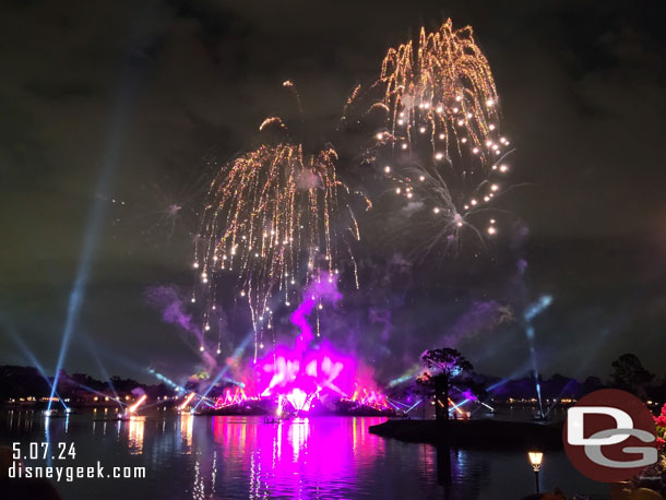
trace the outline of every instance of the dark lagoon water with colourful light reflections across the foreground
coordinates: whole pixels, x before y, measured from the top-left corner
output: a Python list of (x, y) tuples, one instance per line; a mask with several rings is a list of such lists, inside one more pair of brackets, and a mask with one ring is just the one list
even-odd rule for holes
[[(107, 415), (111, 415), (108, 413)], [(534, 491), (524, 453), (450, 450), (449, 485), (438, 480), (437, 450), (371, 434), (384, 418), (316, 417), (264, 424), (262, 417), (195, 417), (155, 410), (131, 421), (95, 414), (49, 419), (38, 412), (0, 414), (0, 444), (74, 443), (74, 459), (53, 466), (143, 466), (144, 479), (74, 479), (66, 500), (132, 499), (519, 499)], [(440, 454), (441, 456), (441, 454)], [(605, 495), (578, 474), (563, 452), (545, 456), (542, 488)]]

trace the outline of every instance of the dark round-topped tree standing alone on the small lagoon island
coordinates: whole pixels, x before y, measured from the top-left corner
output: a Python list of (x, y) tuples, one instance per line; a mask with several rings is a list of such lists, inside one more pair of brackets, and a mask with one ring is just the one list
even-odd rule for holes
[(426, 350), (421, 364), (427, 368), (417, 383), (431, 391), (435, 396), (435, 415), (438, 420), (449, 420), (449, 391), (451, 384), (462, 382), (473, 370), (472, 364), (456, 349), (443, 347)]

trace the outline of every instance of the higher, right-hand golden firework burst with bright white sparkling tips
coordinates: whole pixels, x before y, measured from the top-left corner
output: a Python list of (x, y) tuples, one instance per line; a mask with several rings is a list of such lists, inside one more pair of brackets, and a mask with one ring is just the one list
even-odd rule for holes
[[(429, 249), (457, 241), (463, 228), (480, 237), (475, 214), (506, 191), (500, 179), (510, 143), (500, 134), (495, 81), (472, 27), (453, 29), (448, 20), (436, 32), (421, 28), (418, 46), (389, 49), (379, 80), (366, 93), (355, 88), (345, 111), (357, 102), (361, 118), (381, 116), (366, 158), (419, 214), (411, 226), (430, 226)], [(485, 224), (487, 235), (497, 233), (495, 219)]]

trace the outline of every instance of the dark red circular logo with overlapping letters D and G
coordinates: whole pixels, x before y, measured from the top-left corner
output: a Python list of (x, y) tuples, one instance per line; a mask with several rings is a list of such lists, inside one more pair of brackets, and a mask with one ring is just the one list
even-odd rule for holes
[(657, 461), (656, 426), (647, 406), (617, 389), (587, 394), (567, 412), (567, 456), (591, 479), (629, 479)]

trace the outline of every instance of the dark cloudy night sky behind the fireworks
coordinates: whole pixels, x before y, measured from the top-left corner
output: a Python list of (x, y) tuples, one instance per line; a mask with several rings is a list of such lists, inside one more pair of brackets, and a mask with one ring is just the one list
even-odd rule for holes
[[(286, 79), (309, 134), (344, 150), (335, 128), (354, 86), (377, 78), (388, 47), (451, 16), (474, 26), (495, 73), (516, 148), (513, 215), (484, 251), (423, 260), (409, 258), (418, 235), (389, 236), (394, 215), (364, 215), (361, 290), (332, 313), (332, 337), (384, 381), (444, 342), (478, 371), (518, 376), (530, 366), (522, 311), (551, 295), (534, 323), (545, 374), (606, 378), (632, 352), (663, 376), (665, 14), (664, 2), (616, 0), (3, 2), (0, 364), (31, 364), (20, 338), (53, 370), (92, 234), (64, 368), (99, 377), (96, 354), (110, 374), (192, 373), (195, 342), (145, 293), (192, 286), (215, 162), (293, 109)], [(372, 191), (362, 168), (342, 157), (341, 175)], [(485, 316), (498, 308), (509, 318)]]

